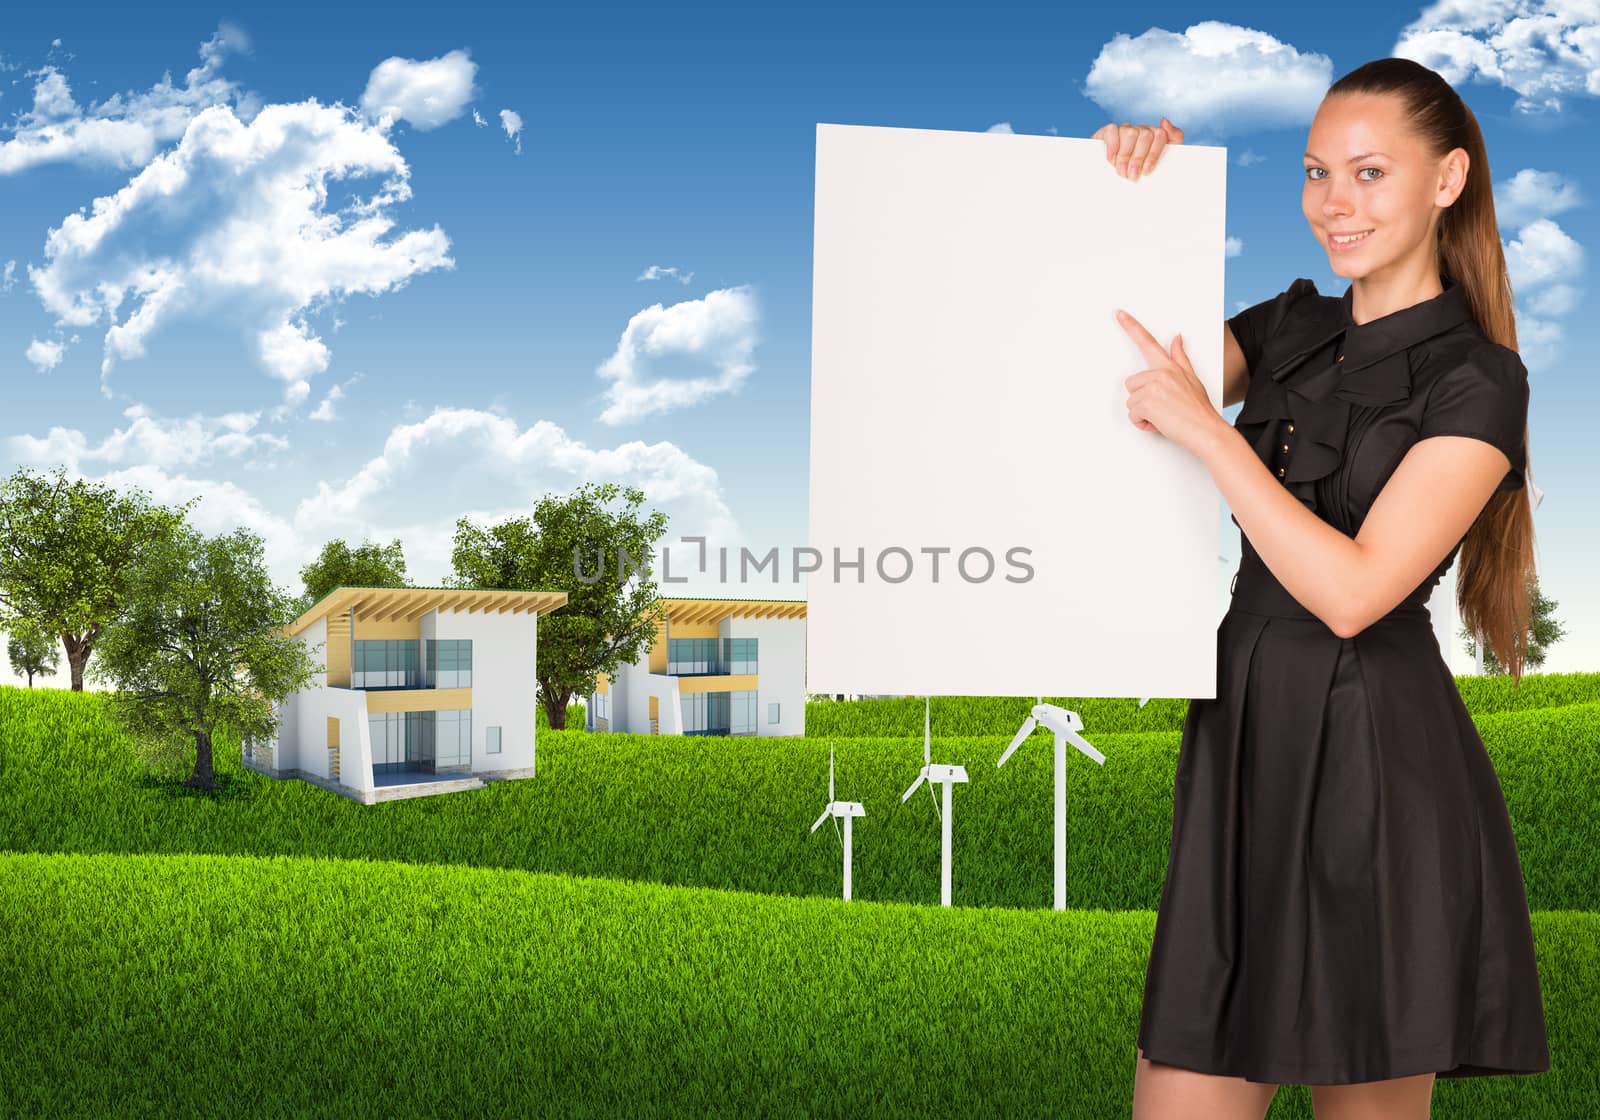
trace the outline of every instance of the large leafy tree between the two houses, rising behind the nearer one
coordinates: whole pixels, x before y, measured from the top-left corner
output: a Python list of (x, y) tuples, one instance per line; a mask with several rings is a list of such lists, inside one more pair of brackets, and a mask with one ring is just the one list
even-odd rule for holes
[[(627, 509), (611, 512), (618, 493)], [(579, 486), (570, 498), (542, 498), (533, 518), (518, 517), (483, 530), (462, 517), (451, 550), (453, 587), (565, 590), (566, 605), (539, 619), (539, 704), (550, 728), (566, 726), (573, 693), (587, 694), (600, 674), (637, 661), (654, 642), (661, 618), (656, 586), (624, 571), (619, 552), (650, 574), (667, 515), (640, 522), (645, 493), (616, 483)], [(597, 576), (594, 582), (578, 578)], [(626, 579), (624, 579), (626, 576)]]

